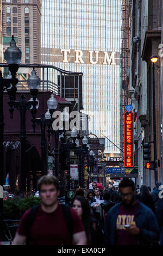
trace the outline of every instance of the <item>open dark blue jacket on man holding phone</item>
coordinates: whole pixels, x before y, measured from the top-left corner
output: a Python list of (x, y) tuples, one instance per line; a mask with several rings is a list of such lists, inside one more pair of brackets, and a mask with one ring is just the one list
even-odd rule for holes
[[(137, 200), (138, 201), (138, 200)], [(137, 235), (139, 245), (151, 245), (159, 241), (159, 225), (156, 217), (146, 205), (139, 203), (135, 216), (136, 227), (140, 229)], [(115, 245), (116, 221), (121, 203), (113, 206), (105, 218), (104, 236), (106, 245)]]

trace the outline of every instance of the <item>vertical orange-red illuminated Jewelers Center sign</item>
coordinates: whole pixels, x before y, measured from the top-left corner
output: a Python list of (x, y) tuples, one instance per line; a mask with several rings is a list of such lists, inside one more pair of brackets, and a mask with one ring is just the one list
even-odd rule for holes
[(134, 167), (134, 113), (124, 113), (124, 166)]

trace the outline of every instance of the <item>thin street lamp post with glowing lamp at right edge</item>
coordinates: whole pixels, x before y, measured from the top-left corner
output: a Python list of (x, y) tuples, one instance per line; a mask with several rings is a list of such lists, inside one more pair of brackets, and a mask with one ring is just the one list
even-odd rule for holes
[(157, 144), (156, 144), (156, 119), (155, 119), (155, 76), (154, 76), (154, 63), (157, 62), (158, 57), (152, 56), (151, 61), (153, 63), (153, 143), (154, 143), (154, 179), (155, 183), (158, 181), (158, 164), (157, 164)]

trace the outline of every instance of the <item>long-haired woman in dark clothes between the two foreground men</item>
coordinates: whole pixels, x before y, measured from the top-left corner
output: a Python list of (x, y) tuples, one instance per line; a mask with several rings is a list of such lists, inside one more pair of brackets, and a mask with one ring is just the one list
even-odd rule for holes
[(81, 218), (86, 238), (87, 245), (100, 245), (103, 242), (103, 233), (99, 229), (98, 222), (91, 217), (90, 205), (86, 198), (77, 196), (72, 200), (72, 209), (77, 212)]

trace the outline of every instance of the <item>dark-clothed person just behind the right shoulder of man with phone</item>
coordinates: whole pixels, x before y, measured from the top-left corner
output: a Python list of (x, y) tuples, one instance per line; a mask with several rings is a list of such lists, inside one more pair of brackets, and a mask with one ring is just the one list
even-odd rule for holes
[(153, 199), (151, 193), (149, 192), (149, 188), (146, 185), (142, 185), (140, 187), (140, 193), (136, 195), (136, 198), (155, 212)]

